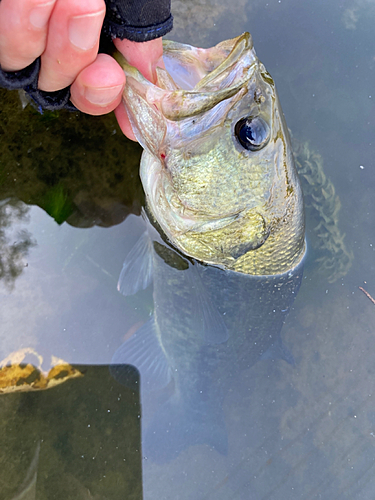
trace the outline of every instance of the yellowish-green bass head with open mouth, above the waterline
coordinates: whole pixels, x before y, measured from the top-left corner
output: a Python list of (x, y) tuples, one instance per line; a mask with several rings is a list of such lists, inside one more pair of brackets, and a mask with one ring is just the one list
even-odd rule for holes
[(148, 211), (199, 261), (254, 275), (292, 269), (305, 248), (302, 191), (251, 36), (209, 49), (165, 41), (164, 63), (154, 85), (123, 62)]

